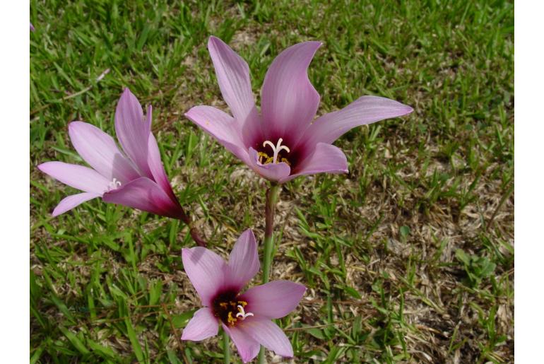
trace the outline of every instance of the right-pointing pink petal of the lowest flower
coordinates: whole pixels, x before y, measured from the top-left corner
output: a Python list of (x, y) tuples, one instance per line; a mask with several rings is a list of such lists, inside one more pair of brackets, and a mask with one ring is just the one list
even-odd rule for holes
[(247, 301), (247, 311), (256, 316), (279, 319), (295, 310), (306, 287), (291, 281), (271, 281), (249, 288), (241, 297)]

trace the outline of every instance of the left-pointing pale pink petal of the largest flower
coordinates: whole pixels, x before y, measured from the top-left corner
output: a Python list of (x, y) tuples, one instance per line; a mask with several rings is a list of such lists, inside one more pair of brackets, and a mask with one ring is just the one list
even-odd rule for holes
[(215, 107), (201, 105), (191, 107), (185, 116), (217, 139), (242, 162), (249, 163), (247, 149), (242, 143), (242, 131), (230, 115)]

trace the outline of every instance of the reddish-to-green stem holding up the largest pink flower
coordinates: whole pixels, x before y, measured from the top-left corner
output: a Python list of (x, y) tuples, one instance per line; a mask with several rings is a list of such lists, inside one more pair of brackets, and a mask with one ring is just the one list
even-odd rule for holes
[[(274, 250), (274, 211), (276, 210), (279, 192), (280, 186), (278, 184), (272, 184), (271, 187), (266, 190), (263, 283), (268, 283), (268, 279), (270, 278), (270, 266), (272, 264), (272, 252)], [(265, 363), (263, 346), (261, 346), (261, 351), (259, 351), (259, 363)]]

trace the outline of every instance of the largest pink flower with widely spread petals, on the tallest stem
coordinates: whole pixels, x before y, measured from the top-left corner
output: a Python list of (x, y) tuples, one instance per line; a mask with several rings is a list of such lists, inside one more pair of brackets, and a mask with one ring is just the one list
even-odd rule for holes
[(319, 94), (307, 68), (320, 46), (321, 42), (299, 43), (274, 59), (261, 89), (259, 115), (247, 63), (222, 40), (210, 37), (208, 49), (232, 117), (202, 105), (185, 115), (268, 180), (283, 183), (300, 175), (348, 172), (344, 153), (332, 145), (336, 139), (354, 127), (413, 109), (387, 98), (363, 96), (312, 123)]

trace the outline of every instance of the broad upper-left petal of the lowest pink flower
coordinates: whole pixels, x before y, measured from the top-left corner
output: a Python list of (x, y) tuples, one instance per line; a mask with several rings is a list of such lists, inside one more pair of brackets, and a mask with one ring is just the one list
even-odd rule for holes
[(182, 249), (182, 261), (185, 273), (199, 293), (202, 305), (211, 305), (215, 293), (225, 286), (227, 264), (218, 254), (205, 247)]

